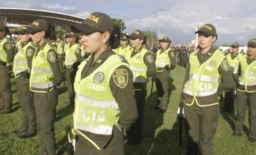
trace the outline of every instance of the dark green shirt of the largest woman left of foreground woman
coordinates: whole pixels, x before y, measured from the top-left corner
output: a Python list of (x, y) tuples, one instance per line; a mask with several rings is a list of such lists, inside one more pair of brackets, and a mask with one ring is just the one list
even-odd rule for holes
[[(36, 51), (36, 55), (38, 54), (38, 52), (45, 47), (45, 45), (48, 43), (47, 40), (45, 40), (42, 45), (40, 47), (37, 48), (37, 51)], [(47, 56), (47, 61), (48, 63), (50, 64), (51, 66), (51, 69), (52, 69), (52, 72), (54, 74), (54, 85), (55, 86), (59, 86), (61, 84), (61, 81), (62, 81), (62, 77), (61, 77), (61, 71), (59, 69), (59, 61), (58, 61), (58, 56), (57, 56), (57, 53), (54, 49), (50, 49), (48, 52), (47, 52), (47, 55), (48, 53), (50, 52), (54, 52), (55, 53), (55, 60), (50, 60), (49, 57)], [(35, 56), (36, 56), (35, 55)]]

